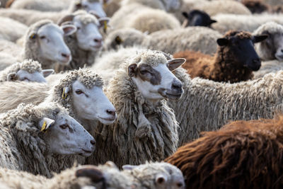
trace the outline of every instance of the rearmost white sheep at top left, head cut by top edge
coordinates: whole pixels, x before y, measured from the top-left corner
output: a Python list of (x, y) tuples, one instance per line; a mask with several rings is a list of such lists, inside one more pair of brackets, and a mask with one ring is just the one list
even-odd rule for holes
[[(22, 0), (21, 0), (22, 1)], [(35, 3), (39, 7), (46, 7), (46, 4), (42, 4), (42, 1), (36, 1)], [(48, 2), (47, 4), (52, 4), (52, 2)], [(56, 3), (57, 4), (57, 3)], [(43, 7), (43, 8), (44, 8)], [(103, 11), (102, 4), (99, 0), (79, 0), (79, 1), (72, 1), (69, 6), (69, 10), (63, 10), (60, 12), (42, 12), (42, 11), (35, 11), (35, 10), (25, 10), (25, 9), (18, 9), (18, 8), (6, 8), (0, 10), (0, 16), (5, 16), (8, 18), (12, 18), (16, 21), (24, 23), (25, 25), (32, 25), (37, 21), (41, 21), (44, 19), (49, 19), (54, 23), (59, 21), (59, 18), (62, 18), (74, 11), (79, 9), (84, 9), (86, 11), (95, 11), (96, 14), (100, 17), (105, 17), (105, 12)]]

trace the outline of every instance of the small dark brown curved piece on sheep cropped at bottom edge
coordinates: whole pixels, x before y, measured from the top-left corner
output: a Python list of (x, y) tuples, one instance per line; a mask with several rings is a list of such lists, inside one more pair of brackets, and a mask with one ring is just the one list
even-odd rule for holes
[(82, 168), (76, 170), (75, 176), (77, 178), (79, 177), (91, 178), (91, 181), (93, 181), (93, 183), (99, 183), (105, 180), (103, 172), (100, 171), (95, 166), (83, 166)]

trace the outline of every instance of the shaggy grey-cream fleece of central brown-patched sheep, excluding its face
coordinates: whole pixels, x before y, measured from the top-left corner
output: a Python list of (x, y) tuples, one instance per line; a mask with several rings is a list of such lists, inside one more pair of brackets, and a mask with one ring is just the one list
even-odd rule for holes
[(88, 164), (114, 161), (117, 166), (161, 161), (170, 156), (178, 144), (178, 122), (165, 100), (156, 104), (146, 100), (127, 75), (127, 67), (134, 62), (152, 66), (166, 63), (166, 57), (157, 52), (141, 52), (121, 66), (106, 90), (115, 106), (117, 121), (113, 125), (98, 126), (91, 134), (99, 144), (96, 155)]

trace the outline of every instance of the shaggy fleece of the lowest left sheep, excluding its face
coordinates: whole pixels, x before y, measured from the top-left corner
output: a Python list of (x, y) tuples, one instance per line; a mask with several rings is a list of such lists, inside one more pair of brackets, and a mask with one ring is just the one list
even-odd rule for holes
[[(9, 131), (9, 137), (12, 142), (5, 149), (16, 149), (17, 154), (8, 154), (11, 159), (16, 159), (13, 163), (17, 170), (28, 171), (34, 174), (42, 174), (44, 176), (52, 176), (52, 171), (58, 167), (64, 166), (58, 162), (56, 157), (48, 154), (49, 147), (45, 144), (38, 122), (43, 117), (55, 119), (56, 114), (60, 111), (66, 111), (57, 104), (49, 104), (49, 108), (45, 106), (35, 106), (32, 104), (18, 105), (18, 108), (10, 110), (1, 116), (1, 131)], [(14, 146), (16, 144), (16, 146)], [(2, 152), (6, 154), (5, 152)], [(68, 161), (68, 159), (64, 159)], [(9, 164), (10, 162), (8, 162)], [(6, 162), (1, 162), (2, 167), (6, 167)], [(55, 169), (54, 169), (55, 168)]]

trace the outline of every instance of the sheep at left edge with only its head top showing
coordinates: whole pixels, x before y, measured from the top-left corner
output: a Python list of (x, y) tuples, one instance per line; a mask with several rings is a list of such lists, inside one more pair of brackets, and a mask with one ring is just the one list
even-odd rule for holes
[(32, 59), (17, 62), (0, 71), (0, 82), (4, 81), (35, 81), (46, 82), (45, 77), (54, 72), (53, 69), (41, 69), (40, 63)]

